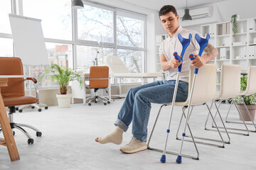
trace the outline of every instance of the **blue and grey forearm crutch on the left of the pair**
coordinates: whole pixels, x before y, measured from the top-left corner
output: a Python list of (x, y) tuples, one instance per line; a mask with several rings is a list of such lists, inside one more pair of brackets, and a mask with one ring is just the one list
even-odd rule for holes
[[(181, 57), (178, 56), (178, 52), (174, 52), (174, 57), (175, 57), (176, 60), (178, 60), (178, 62), (183, 62), (183, 55), (184, 55), (184, 53), (186, 51), (186, 48), (188, 47), (189, 43), (191, 42), (191, 38), (192, 38), (191, 33), (188, 35), (188, 39), (183, 38), (180, 33), (178, 34), (178, 40), (181, 42), (181, 45), (182, 45)], [(164, 152), (163, 152), (163, 154), (161, 156), (161, 159), (160, 159), (160, 161), (162, 163), (166, 162), (166, 146), (167, 146), (167, 140), (168, 140), (168, 136), (169, 136), (169, 132), (170, 132), (171, 115), (172, 115), (173, 110), (174, 110), (176, 92), (177, 92), (177, 89), (178, 89), (178, 77), (179, 77), (179, 74), (181, 72), (181, 68), (182, 68), (182, 63), (178, 66), (176, 84), (175, 84), (175, 88), (174, 88), (174, 96), (173, 96), (172, 103), (171, 103), (171, 114), (170, 114), (170, 118), (169, 118), (169, 126), (166, 130), (166, 132), (167, 132), (166, 133), (166, 143), (165, 143), (165, 146), (164, 146)]]

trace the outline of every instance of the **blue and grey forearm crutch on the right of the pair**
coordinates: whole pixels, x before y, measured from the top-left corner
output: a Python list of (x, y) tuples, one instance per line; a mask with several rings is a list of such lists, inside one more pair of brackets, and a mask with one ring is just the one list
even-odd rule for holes
[[(203, 53), (203, 50), (205, 49), (206, 45), (208, 45), (208, 41), (210, 39), (210, 35), (207, 34), (206, 35), (206, 39), (205, 38), (201, 38), (197, 33), (196, 33), (196, 41), (198, 42), (199, 46), (200, 46), (200, 50), (199, 50), (199, 53), (198, 55), (201, 57), (202, 53)], [(189, 55), (189, 58), (190, 60), (194, 60), (196, 57), (194, 57), (192, 54)], [(194, 84), (195, 84), (195, 81), (196, 81), (196, 75), (198, 74), (198, 68), (195, 68), (195, 72), (194, 72), (194, 77), (193, 77), (193, 84), (192, 84), (192, 87), (191, 87), (191, 94), (189, 96), (189, 101), (188, 101), (188, 113), (186, 115), (186, 123), (184, 125), (184, 131), (182, 133), (182, 140), (181, 140), (181, 150), (178, 154), (178, 157), (176, 159), (176, 162), (178, 164), (181, 164), (182, 160), (181, 160), (181, 151), (182, 151), (182, 147), (183, 147), (183, 141), (184, 141), (184, 137), (186, 136), (186, 126), (188, 124), (188, 114), (190, 113), (190, 109), (191, 109), (191, 98), (192, 98), (192, 95), (193, 95), (193, 87), (194, 87)]]

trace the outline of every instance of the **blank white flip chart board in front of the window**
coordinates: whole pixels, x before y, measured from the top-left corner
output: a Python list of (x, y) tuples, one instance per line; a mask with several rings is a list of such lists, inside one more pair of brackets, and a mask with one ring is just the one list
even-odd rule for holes
[(24, 65), (48, 65), (48, 54), (41, 20), (11, 13), (9, 13), (9, 19), (16, 57), (21, 58)]

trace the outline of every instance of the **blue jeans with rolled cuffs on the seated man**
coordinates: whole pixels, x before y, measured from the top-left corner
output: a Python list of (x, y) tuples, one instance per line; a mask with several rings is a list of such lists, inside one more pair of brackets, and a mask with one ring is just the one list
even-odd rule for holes
[[(132, 122), (132, 135), (146, 142), (151, 103), (170, 103), (175, 83), (176, 80), (154, 81), (129, 89), (114, 125), (119, 125), (126, 132)], [(178, 81), (176, 101), (186, 101), (187, 97), (188, 83)]]

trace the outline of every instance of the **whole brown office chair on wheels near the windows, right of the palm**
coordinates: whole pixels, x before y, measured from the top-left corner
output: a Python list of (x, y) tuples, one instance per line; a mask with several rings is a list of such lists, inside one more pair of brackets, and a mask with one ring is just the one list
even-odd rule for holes
[(89, 85), (85, 87), (87, 89), (95, 89), (95, 96), (87, 98), (86, 101), (89, 101), (88, 102), (89, 106), (91, 106), (91, 102), (94, 99), (95, 99), (95, 103), (97, 103), (97, 99), (100, 99), (101, 101), (103, 101), (104, 105), (107, 105), (107, 103), (110, 103), (109, 99), (102, 96), (98, 96), (97, 94), (98, 89), (107, 89), (108, 85), (109, 85), (109, 67), (107, 66), (90, 67)]

